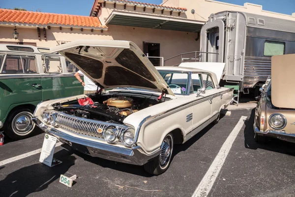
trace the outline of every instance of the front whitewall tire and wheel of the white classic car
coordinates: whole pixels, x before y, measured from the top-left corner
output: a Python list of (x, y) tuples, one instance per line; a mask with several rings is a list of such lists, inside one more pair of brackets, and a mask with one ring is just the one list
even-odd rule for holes
[(164, 173), (168, 169), (171, 163), (174, 145), (173, 143), (173, 135), (169, 133), (168, 135), (166, 135), (162, 142), (160, 155), (145, 164), (145, 170), (148, 173), (159, 175)]

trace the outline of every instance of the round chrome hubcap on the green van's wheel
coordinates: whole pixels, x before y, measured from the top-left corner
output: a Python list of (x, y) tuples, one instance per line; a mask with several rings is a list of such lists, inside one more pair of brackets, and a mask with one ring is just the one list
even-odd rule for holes
[(13, 130), (19, 134), (31, 131), (33, 128), (31, 118), (32, 116), (26, 112), (19, 113), (12, 121)]

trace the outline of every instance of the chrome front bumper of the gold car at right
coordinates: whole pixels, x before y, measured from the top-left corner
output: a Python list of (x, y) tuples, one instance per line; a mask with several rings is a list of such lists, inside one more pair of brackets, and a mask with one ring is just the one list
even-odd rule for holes
[(265, 135), (265, 136), (270, 136), (274, 138), (278, 138), (281, 140), (289, 141), (289, 142), (294, 142), (295, 143), (295, 134), (292, 133), (286, 133), (285, 131), (275, 131), (275, 130), (268, 130), (268, 131), (260, 131), (256, 124), (254, 123), (253, 129), (256, 133), (259, 135)]

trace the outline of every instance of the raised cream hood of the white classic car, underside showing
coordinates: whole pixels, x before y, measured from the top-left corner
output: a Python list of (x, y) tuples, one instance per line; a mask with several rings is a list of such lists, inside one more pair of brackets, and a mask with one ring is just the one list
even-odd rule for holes
[(131, 87), (174, 95), (133, 42), (76, 40), (52, 47), (50, 52), (59, 52), (102, 88)]

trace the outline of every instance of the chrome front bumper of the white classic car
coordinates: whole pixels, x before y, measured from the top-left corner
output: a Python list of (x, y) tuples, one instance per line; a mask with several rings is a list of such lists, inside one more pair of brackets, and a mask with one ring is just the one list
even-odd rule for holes
[(158, 156), (161, 151), (159, 149), (152, 155), (148, 155), (140, 146), (134, 146), (128, 149), (110, 144), (103, 144), (69, 135), (56, 128), (50, 128), (36, 117), (32, 118), (32, 121), (46, 133), (57, 137), (58, 140), (63, 143), (63, 148), (67, 150), (76, 150), (92, 157), (99, 157), (126, 164), (143, 165)]

